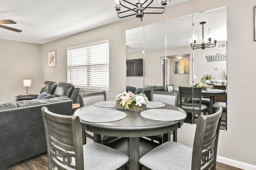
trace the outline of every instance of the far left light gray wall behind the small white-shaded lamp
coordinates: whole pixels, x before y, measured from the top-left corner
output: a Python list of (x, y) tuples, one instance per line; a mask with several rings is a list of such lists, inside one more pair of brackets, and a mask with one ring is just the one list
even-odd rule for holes
[(14, 102), (26, 94), (23, 80), (30, 79), (28, 93), (38, 94), (42, 86), (41, 45), (0, 39), (0, 103)]

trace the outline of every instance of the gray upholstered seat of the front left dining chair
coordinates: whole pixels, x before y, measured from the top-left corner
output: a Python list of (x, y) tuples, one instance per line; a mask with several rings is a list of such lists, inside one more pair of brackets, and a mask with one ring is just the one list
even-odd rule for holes
[(116, 170), (129, 160), (126, 154), (96, 142), (83, 145), (83, 150), (85, 170)]

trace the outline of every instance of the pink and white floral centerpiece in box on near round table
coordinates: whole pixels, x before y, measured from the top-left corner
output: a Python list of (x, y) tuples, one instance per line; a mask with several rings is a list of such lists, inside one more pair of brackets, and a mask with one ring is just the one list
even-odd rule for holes
[[(116, 96), (116, 106), (118, 104), (122, 105), (124, 109), (130, 109), (129, 105), (144, 107), (146, 109), (146, 104), (148, 104), (148, 98), (145, 94), (133, 94), (132, 92), (123, 92)], [(144, 106), (143, 106), (144, 105)]]

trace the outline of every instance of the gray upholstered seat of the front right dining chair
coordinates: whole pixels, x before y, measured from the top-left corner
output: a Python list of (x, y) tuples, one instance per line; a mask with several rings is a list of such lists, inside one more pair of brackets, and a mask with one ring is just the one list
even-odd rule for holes
[(168, 141), (142, 156), (140, 163), (152, 170), (191, 170), (192, 151), (192, 148)]

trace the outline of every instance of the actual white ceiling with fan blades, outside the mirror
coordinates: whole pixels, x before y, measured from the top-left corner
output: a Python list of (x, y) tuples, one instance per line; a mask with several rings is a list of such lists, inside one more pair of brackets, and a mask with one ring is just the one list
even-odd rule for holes
[(2, 25), (22, 32), (1, 28), (0, 39), (43, 44), (125, 19), (118, 18), (113, 0), (1, 0), (0, 20), (17, 23)]

